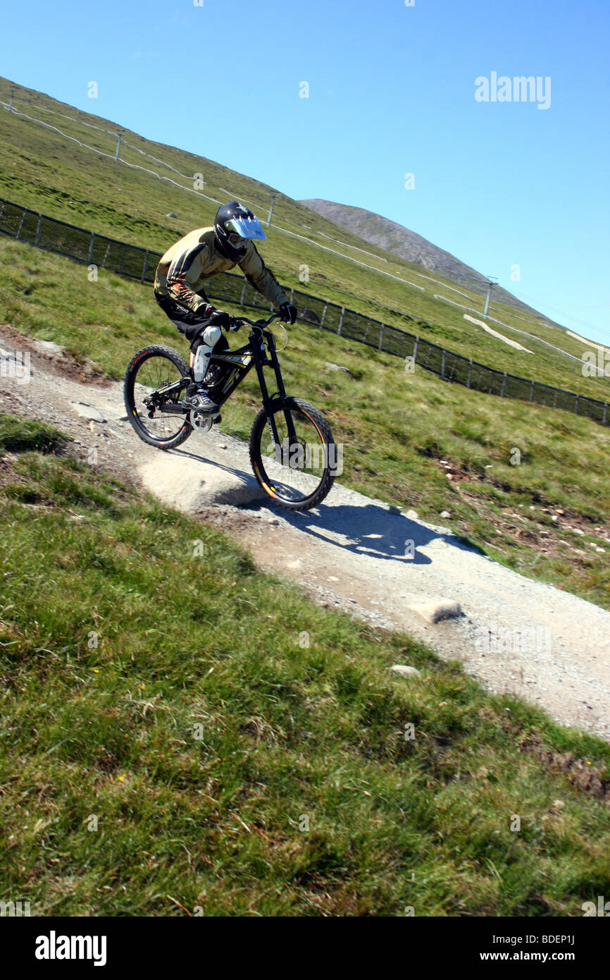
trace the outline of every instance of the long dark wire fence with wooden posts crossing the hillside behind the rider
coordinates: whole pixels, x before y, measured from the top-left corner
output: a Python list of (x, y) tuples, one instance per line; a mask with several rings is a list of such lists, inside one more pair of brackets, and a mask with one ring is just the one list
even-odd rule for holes
[[(87, 266), (117, 272), (130, 279), (152, 283), (162, 253), (127, 245), (106, 235), (57, 221), (0, 198), (0, 232), (37, 248), (66, 256)], [(241, 307), (267, 309), (268, 301), (243, 276), (220, 272), (210, 280), (206, 291), (214, 302), (233, 303)], [(463, 384), (475, 391), (516, 398), (537, 405), (563, 409), (607, 425), (608, 403), (554, 388), (506, 371), (487, 368), (471, 358), (447, 351), (438, 344), (381, 320), (370, 319), (336, 303), (317, 296), (291, 290), (291, 302), (299, 319), (348, 340), (366, 344), (378, 351), (402, 358), (405, 369), (417, 365), (433, 371), (445, 381)], [(409, 316), (406, 314), (405, 316)], [(415, 320), (415, 318), (410, 318)]]

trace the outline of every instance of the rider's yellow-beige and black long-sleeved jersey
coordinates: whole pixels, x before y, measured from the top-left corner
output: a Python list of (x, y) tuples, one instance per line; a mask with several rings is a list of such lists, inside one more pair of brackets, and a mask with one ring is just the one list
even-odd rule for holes
[(177, 303), (197, 312), (208, 305), (204, 283), (218, 272), (239, 265), (259, 293), (276, 307), (288, 303), (286, 293), (272, 272), (264, 265), (253, 241), (238, 263), (225, 259), (216, 244), (213, 227), (196, 228), (180, 238), (162, 257), (155, 273), (155, 292), (170, 296)]

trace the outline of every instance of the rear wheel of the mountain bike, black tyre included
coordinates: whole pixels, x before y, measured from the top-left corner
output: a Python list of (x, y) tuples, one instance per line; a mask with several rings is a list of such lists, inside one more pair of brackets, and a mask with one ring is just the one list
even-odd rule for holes
[(140, 439), (149, 446), (173, 449), (193, 431), (188, 417), (176, 411), (184, 401), (185, 388), (164, 395), (168, 385), (187, 374), (184, 358), (159, 344), (144, 347), (131, 359), (123, 387), (125, 409)]

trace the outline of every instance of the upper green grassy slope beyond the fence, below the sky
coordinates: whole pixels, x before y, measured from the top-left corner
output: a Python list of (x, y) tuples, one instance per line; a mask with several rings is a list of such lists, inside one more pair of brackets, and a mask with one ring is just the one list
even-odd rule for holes
[[(0, 98), (6, 101), (8, 91), (9, 82), (0, 78)], [(15, 105), (20, 112), (51, 123), (68, 135), (114, 156), (116, 138), (83, 123), (93, 123), (102, 130), (116, 130), (116, 124), (82, 113), (21, 86)], [(71, 122), (65, 116), (77, 122)], [(187, 179), (179, 178), (162, 164), (142, 157), (136, 150), (129, 149), (127, 143), (183, 174), (203, 172), (205, 194), (224, 201), (228, 191), (251, 202), (264, 218), (272, 188), (260, 180), (230, 171), (221, 164), (175, 147), (146, 140), (137, 133), (125, 132), (121, 153), (127, 163), (152, 168), (187, 186)], [(0, 196), (62, 221), (161, 252), (191, 228), (211, 223), (217, 207), (211, 201), (174, 187), (150, 173), (117, 164), (114, 159), (96, 156), (59, 133), (27, 122), (4, 109), (0, 112)], [(168, 213), (176, 214), (178, 219), (168, 219)], [(483, 298), (471, 290), (459, 286), (465, 295), (454, 293), (448, 288), (452, 283), (436, 273), (434, 278), (442, 283), (445, 281), (445, 286), (419, 277), (418, 273), (427, 274), (422, 267), (368, 245), (352, 232), (326, 221), (284, 195), (280, 195), (276, 201), (274, 222), (302, 236), (295, 238), (283, 234), (277, 227), (271, 227), (268, 229), (268, 241), (261, 248), (265, 261), (274, 268), (287, 288), (302, 289), (411, 333), (419, 333), (434, 343), (492, 368), (532, 377), (602, 401), (608, 398), (610, 378), (584, 377), (576, 363), (537, 341), (503, 331), (531, 348), (534, 356), (512, 350), (481, 327), (464, 320), (464, 311), (434, 299), (435, 294), (446, 295), (449, 299), (482, 311)], [(338, 245), (323, 235), (344, 244)], [(343, 255), (324, 251), (312, 241)], [(350, 249), (350, 245), (363, 248), (370, 254), (362, 255)], [(372, 268), (354, 265), (344, 255), (352, 255)], [(304, 266), (309, 274), (306, 283), (299, 278)], [(423, 286), (425, 293), (399, 282), (397, 278), (384, 275), (384, 271), (389, 272), (390, 276)], [(553, 326), (550, 321), (540, 323), (543, 318), (529, 307), (523, 306), (515, 311), (511, 307), (494, 304), (493, 316), (533, 333), (577, 358), (582, 356), (585, 345), (581, 341), (569, 337), (562, 327)], [(521, 317), (525, 319), (518, 319)], [(501, 327), (494, 323), (491, 325), (502, 332)]]

